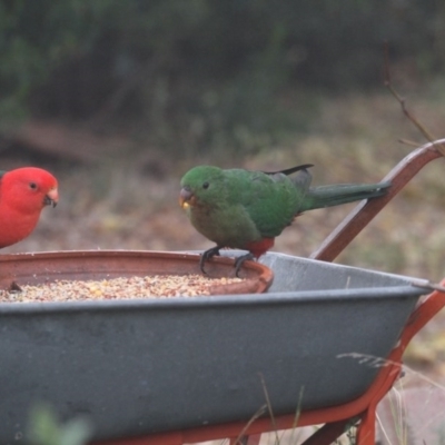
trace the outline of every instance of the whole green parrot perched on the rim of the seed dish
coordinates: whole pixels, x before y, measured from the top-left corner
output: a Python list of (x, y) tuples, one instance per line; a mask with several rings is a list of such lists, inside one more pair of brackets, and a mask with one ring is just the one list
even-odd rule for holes
[[(274, 239), (306, 210), (382, 196), (390, 182), (339, 184), (309, 187), (310, 164), (281, 171), (224, 170), (198, 166), (180, 181), (179, 204), (192, 226), (216, 246), (206, 250), (205, 261), (221, 248), (248, 250), (237, 258), (236, 274), (246, 259), (259, 258)], [(290, 178), (290, 175), (296, 174)]]

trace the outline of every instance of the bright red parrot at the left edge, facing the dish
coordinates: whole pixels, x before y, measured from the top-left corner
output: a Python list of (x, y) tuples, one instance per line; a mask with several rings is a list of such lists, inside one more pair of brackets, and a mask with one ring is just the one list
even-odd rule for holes
[(0, 248), (30, 235), (42, 208), (56, 207), (58, 200), (58, 182), (50, 172), (36, 167), (0, 171)]

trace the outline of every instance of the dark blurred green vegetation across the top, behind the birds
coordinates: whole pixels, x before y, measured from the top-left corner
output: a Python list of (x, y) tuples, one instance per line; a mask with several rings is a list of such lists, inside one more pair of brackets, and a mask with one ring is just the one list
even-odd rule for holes
[(0, 129), (29, 117), (178, 156), (251, 154), (304, 132), (320, 96), (445, 63), (441, 0), (4, 0)]

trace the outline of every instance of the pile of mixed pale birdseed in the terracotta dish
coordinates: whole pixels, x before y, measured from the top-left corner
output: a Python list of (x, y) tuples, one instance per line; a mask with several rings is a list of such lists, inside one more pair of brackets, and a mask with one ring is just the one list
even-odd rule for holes
[(102, 280), (56, 280), (38, 286), (20, 285), (21, 291), (0, 290), (0, 303), (85, 301), (100, 299), (170, 298), (210, 295), (210, 288), (240, 283), (240, 278), (202, 275), (152, 275)]

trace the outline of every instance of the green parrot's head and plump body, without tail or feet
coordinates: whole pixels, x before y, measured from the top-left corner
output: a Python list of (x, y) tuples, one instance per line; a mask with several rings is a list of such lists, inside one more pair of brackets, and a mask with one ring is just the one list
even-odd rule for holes
[(181, 205), (191, 224), (219, 246), (245, 248), (278, 236), (303, 195), (283, 174), (200, 166), (181, 180)]

